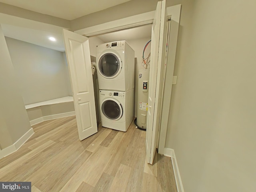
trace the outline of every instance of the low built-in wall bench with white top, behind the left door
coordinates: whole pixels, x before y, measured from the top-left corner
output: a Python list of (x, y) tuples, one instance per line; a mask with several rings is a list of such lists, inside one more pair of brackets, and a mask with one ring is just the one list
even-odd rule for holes
[(46, 120), (75, 115), (72, 96), (25, 105), (30, 125)]

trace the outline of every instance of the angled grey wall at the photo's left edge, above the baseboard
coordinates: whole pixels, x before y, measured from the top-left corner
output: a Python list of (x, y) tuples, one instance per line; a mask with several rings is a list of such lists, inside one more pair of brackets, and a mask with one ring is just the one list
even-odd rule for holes
[(0, 148), (14, 144), (31, 126), (0, 26)]

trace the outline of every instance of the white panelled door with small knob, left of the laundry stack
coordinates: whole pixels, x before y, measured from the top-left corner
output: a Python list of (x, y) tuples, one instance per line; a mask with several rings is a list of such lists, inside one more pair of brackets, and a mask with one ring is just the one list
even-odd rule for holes
[(98, 132), (89, 40), (63, 29), (79, 139)]

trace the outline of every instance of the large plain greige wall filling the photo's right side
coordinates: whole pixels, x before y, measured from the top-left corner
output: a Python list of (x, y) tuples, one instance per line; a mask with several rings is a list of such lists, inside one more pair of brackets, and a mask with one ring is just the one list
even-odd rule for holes
[(185, 192), (256, 190), (256, 1), (183, 1), (166, 147)]

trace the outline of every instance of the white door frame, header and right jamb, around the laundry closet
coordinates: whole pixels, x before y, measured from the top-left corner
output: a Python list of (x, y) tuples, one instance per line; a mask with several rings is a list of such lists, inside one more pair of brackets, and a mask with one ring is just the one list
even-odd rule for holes
[[(170, 28), (170, 36), (172, 38), (169, 39), (169, 52), (168, 52), (168, 66), (166, 67), (166, 73), (168, 76), (165, 77), (164, 80), (164, 92), (162, 103), (165, 105), (162, 106), (162, 114), (160, 119), (160, 132), (159, 132), (159, 143), (158, 143), (158, 153), (165, 154), (165, 142), (166, 142), (166, 133), (167, 133), (167, 123), (170, 111), (170, 98), (172, 93), (172, 84), (167, 84), (165, 82), (172, 82), (173, 72), (174, 72), (174, 62), (176, 55), (176, 46), (178, 39), (178, 26), (180, 23), (180, 11), (181, 4), (167, 7), (167, 15), (171, 18), (171, 28)], [(146, 12), (134, 16), (130, 16), (127, 18), (114, 20), (110, 22), (106, 22), (104, 24), (99, 24), (95, 26), (90, 26), (87, 28), (83, 28), (80, 30), (74, 31), (75, 33), (84, 35), (86, 37), (93, 37), (100, 34), (106, 34), (110, 32), (116, 32), (119, 30), (125, 30), (129, 28), (134, 28), (138, 26), (152, 24), (154, 18), (155, 11)], [(173, 25), (172, 25), (173, 24)], [(174, 27), (172, 27), (174, 26)]]

